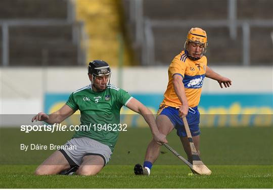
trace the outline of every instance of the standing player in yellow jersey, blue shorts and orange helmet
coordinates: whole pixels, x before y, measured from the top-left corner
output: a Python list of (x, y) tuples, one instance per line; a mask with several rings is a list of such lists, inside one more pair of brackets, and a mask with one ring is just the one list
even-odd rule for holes
[[(169, 66), (169, 82), (156, 118), (157, 126), (162, 134), (168, 135), (174, 128), (176, 129), (189, 162), (192, 162), (191, 149), (181, 118), (187, 118), (194, 145), (200, 155), (200, 113), (197, 106), (204, 78), (216, 80), (221, 88), (230, 87), (232, 84), (229, 78), (215, 73), (207, 66), (207, 58), (204, 56), (207, 44), (207, 34), (203, 29), (192, 28), (189, 31), (184, 50), (174, 57)], [(143, 167), (136, 164), (134, 173), (149, 175), (159, 151), (160, 145), (152, 140), (148, 145)]]

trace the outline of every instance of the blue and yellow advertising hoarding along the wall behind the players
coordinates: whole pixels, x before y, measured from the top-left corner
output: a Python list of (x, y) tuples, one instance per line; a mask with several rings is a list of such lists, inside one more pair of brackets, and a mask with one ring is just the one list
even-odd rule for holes
[[(53, 113), (68, 100), (69, 93), (46, 93), (45, 113)], [(154, 114), (163, 99), (159, 93), (135, 93), (132, 97), (142, 102)], [(272, 126), (273, 94), (202, 94), (199, 104), (201, 127)], [(77, 111), (76, 114), (79, 114)], [(140, 115), (125, 107), (121, 109), (121, 123), (131, 127), (147, 126)], [(72, 121), (69, 121), (72, 122)], [(78, 122), (78, 121), (74, 121)], [(75, 123), (73, 123), (75, 124)]]

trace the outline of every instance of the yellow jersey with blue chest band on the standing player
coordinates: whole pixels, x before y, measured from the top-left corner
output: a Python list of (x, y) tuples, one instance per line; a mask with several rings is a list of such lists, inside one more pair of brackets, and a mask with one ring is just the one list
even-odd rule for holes
[(181, 102), (176, 96), (172, 84), (172, 77), (175, 74), (183, 77), (189, 107), (193, 108), (198, 106), (206, 74), (206, 67), (207, 58), (205, 56), (202, 56), (197, 61), (189, 59), (187, 51), (182, 51), (179, 55), (175, 56), (168, 69), (169, 82), (160, 108), (165, 106), (177, 108), (181, 106)]

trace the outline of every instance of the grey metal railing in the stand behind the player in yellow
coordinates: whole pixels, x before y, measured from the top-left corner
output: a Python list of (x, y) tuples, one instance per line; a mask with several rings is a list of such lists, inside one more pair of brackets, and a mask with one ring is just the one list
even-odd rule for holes
[[(237, 0), (228, 1), (228, 16), (224, 20), (151, 20), (144, 18), (143, 0), (130, 1), (130, 22), (135, 24), (135, 44), (142, 46), (142, 64), (155, 65), (155, 46), (153, 28), (191, 28), (193, 23), (200, 27), (226, 27), (229, 28), (230, 38), (237, 38), (237, 28), (243, 32), (243, 66), (250, 65), (250, 27), (259, 26), (272, 28), (272, 20), (238, 20)], [(272, 39), (273, 40), (273, 39)]]

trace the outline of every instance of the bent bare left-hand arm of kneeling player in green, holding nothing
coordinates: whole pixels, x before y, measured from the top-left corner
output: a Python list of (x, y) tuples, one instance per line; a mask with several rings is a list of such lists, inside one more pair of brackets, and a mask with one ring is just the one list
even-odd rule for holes
[(43, 112), (38, 113), (32, 118), (32, 122), (35, 121), (45, 121), (49, 124), (54, 124), (54, 123), (61, 123), (63, 120), (71, 116), (75, 111), (70, 108), (67, 105), (64, 105), (61, 109), (58, 111), (48, 115)]

